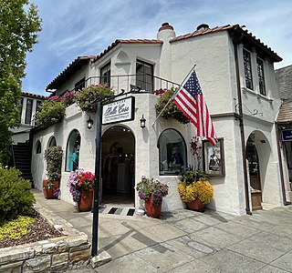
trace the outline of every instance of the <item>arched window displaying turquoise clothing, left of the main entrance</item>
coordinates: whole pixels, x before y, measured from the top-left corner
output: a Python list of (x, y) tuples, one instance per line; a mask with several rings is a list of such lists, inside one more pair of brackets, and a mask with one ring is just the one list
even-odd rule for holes
[(66, 171), (74, 171), (79, 165), (80, 134), (78, 130), (73, 130), (68, 137), (66, 151)]

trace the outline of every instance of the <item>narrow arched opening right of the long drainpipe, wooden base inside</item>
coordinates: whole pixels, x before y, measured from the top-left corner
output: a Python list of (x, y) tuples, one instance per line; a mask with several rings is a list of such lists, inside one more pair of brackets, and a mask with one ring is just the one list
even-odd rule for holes
[(255, 147), (255, 134), (248, 136), (246, 143), (246, 159), (248, 160), (248, 172), (253, 210), (262, 209), (262, 186), (260, 177), (260, 164)]

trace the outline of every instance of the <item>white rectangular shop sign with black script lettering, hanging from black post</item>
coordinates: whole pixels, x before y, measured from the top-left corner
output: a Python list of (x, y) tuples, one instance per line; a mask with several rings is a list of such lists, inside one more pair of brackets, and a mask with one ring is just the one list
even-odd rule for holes
[(102, 125), (134, 119), (135, 97), (129, 96), (102, 106)]

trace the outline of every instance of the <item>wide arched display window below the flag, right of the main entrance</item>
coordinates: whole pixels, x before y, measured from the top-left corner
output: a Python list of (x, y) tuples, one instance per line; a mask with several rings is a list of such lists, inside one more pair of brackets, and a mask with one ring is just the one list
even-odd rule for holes
[(174, 129), (166, 129), (159, 136), (159, 174), (177, 176), (186, 167), (186, 147), (183, 136)]

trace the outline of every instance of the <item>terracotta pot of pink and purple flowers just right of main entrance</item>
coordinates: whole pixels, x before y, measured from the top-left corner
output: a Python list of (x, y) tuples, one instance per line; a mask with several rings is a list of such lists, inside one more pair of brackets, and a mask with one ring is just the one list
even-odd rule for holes
[(138, 196), (145, 200), (145, 210), (149, 217), (159, 217), (162, 213), (162, 197), (168, 195), (168, 186), (158, 179), (141, 177), (137, 184)]

